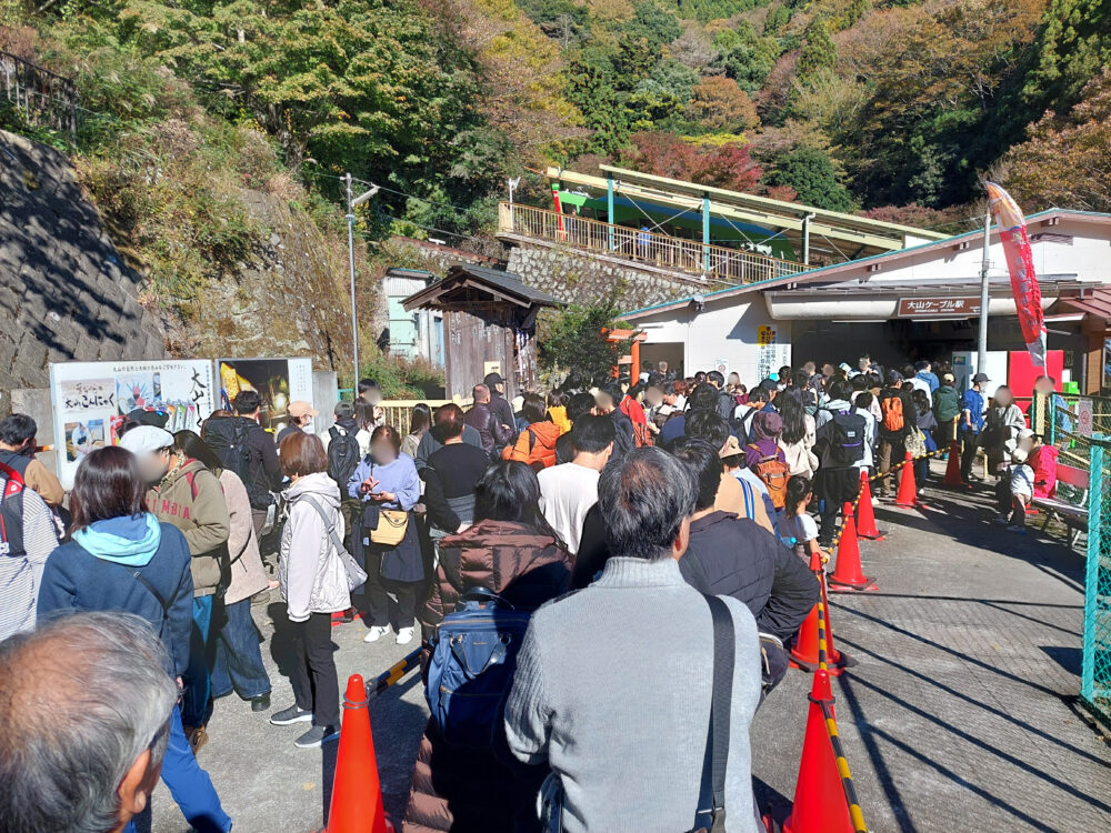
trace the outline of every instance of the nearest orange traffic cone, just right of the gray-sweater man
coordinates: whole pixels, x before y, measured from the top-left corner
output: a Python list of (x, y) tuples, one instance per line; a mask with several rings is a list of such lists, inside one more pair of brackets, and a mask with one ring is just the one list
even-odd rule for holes
[(829, 704), (832, 716), (833, 692), (829, 674), (819, 671), (810, 692), (810, 714), (802, 742), (802, 760), (799, 761), (799, 781), (794, 786), (794, 804), (791, 816), (783, 823), (783, 833), (852, 833), (849, 803), (822, 713), (823, 702)]

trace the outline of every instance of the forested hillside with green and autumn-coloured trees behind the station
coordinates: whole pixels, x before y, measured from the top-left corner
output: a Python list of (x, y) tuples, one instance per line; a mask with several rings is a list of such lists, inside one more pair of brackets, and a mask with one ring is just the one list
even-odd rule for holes
[[(1111, 209), (1111, 0), (0, 0), (0, 49), (77, 80), (87, 189), (188, 299), (261, 233), (261, 190), (329, 234), (339, 177), (390, 233), (482, 245), (549, 162), (931, 227), (980, 179)], [(360, 185), (361, 188), (361, 185)]]

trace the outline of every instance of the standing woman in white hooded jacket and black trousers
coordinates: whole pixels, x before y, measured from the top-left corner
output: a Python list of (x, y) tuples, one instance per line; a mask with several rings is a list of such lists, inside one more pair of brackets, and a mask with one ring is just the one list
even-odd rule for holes
[(340, 490), (328, 476), (320, 438), (290, 434), (281, 444), (289, 515), (281, 533), (278, 581), (292, 623), (296, 660), (290, 673), (296, 702), (276, 712), (276, 726), (312, 722), (293, 744), (316, 749), (339, 736), (340, 690), (332, 658), (332, 614), (351, 606), (347, 568), (333, 542), (343, 540)]

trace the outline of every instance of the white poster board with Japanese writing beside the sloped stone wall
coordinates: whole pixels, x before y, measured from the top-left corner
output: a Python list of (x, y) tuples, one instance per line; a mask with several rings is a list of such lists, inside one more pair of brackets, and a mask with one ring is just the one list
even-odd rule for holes
[(58, 478), (73, 474), (91, 451), (114, 445), (130, 411), (166, 413), (166, 430), (199, 431), (216, 409), (212, 363), (207, 360), (54, 362), (50, 364)]

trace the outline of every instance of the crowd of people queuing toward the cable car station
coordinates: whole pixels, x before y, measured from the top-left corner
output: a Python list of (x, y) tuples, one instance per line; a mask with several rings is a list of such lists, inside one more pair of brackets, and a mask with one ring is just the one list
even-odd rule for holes
[[(1030, 499), (1052, 493), (1055, 449), (1010, 391), (989, 403), (984, 374), (962, 392), (934, 370), (863, 357), (784, 367), (747, 388), (735, 373), (681, 377), (661, 362), (635, 378), (572, 372), (514, 402), (491, 373), (466, 411), (418, 405), (407, 426), (387, 423), (363, 380), (320, 435), (306, 431), (320, 416), (311, 404), (290, 403), (277, 442), (259, 394), (243, 391), (199, 433), (132, 412), (119, 446), (82, 459), (68, 499), (34, 460), (33, 420), (9, 416), (0, 815), (18, 833), (130, 831), (161, 774), (196, 830), (230, 830), (196, 753), (219, 697), (271, 711), (251, 612), (270, 590), (296, 662), (293, 702), (269, 720), (307, 724), (302, 749), (339, 734), (334, 624), (361, 621), (368, 643), (419, 641), (426, 680), (488, 652), (463, 705), (461, 690), (429, 691), (409, 833), (694, 830), (725, 807), (727, 830), (754, 831), (749, 725), (785, 673), (819, 598), (809, 564), (828, 560), (862, 473), (889, 474), (888, 495), (910, 453), (922, 489), (927, 452), (955, 442), (971, 482), (982, 449), (1014, 531)], [(470, 604), (526, 616), (523, 640), (468, 641), (464, 629), (441, 650), (440, 629), (463, 628)], [(56, 688), (26, 671), (43, 658)], [(482, 682), (493, 665), (500, 675)], [(722, 686), (718, 750), (708, 725)], [(118, 713), (98, 716), (112, 711), (98, 695)], [(66, 696), (60, 731), (30, 713)], [(647, 714), (668, 719), (645, 732)], [(722, 772), (704, 765), (720, 755)], [(27, 764), (66, 756), (54, 772)], [(89, 800), (67, 802), (77, 770), (93, 773)]]

